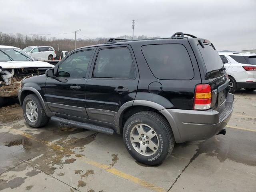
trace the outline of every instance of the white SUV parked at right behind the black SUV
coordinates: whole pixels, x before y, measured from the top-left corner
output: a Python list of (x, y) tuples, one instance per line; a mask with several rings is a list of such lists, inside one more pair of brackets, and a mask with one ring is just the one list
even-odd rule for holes
[(239, 52), (219, 52), (219, 54), (228, 74), (230, 93), (241, 88), (248, 91), (256, 90), (256, 54)]

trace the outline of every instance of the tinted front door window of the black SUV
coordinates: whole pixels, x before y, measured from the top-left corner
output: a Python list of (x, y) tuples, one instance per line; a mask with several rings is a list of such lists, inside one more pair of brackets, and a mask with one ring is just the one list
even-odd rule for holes
[(57, 77), (84, 78), (92, 50), (76, 52), (68, 56), (58, 67)]

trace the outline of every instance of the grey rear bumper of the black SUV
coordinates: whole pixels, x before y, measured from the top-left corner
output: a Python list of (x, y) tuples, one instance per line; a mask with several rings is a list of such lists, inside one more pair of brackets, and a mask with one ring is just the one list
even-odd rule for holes
[(179, 110), (164, 109), (160, 112), (167, 118), (177, 143), (205, 140), (218, 134), (230, 120), (234, 108), (234, 95), (228, 93), (225, 109), (216, 110)]

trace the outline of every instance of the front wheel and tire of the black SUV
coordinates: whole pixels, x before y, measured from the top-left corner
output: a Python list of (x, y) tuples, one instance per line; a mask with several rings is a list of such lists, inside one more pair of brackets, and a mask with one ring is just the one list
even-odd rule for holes
[[(34, 107), (34, 105), (32, 105), (34, 108), (31, 107), (31, 104), (35, 104), (36, 107)], [(31, 111), (29, 108), (33, 110)], [(49, 121), (49, 118), (46, 116), (44, 108), (36, 94), (30, 94), (25, 97), (22, 103), (22, 110), (27, 124), (31, 127), (39, 128), (45, 126)], [(34, 114), (32, 115), (31, 113), (33, 112)], [(36, 114), (38, 114), (37, 117)]]

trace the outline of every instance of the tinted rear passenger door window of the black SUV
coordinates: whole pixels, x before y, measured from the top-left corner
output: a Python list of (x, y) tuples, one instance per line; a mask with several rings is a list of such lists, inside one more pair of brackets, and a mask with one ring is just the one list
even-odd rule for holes
[(128, 48), (102, 49), (99, 51), (94, 77), (97, 78), (135, 78), (135, 68)]

